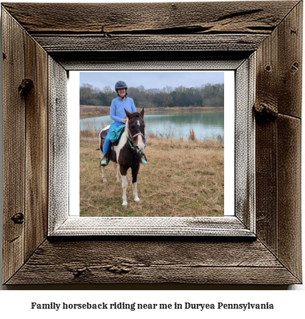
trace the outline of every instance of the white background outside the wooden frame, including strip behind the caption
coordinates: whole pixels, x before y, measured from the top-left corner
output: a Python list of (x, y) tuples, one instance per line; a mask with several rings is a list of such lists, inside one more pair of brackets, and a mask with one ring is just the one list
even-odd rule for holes
[[(196, 1), (196, 0), (195, 0)], [(264, 0), (265, 1), (265, 0)], [(9, 1), (7, 1), (9, 2)], [(18, 2), (18, 1), (10, 1)], [(27, 1), (27, 2), (42, 2), (42, 1)], [(44, 1), (44, 2), (64, 2), (64, 1)], [(84, 2), (84, 1), (66, 1), (66, 2)], [(103, 2), (103, 1), (90, 1), (90, 2)], [(110, 1), (107, 2), (136, 2), (136, 1)], [(145, 2), (145, 1), (142, 1)], [(153, 2), (153, 1), (151, 1)], [(172, 2), (172, 1), (163, 1)], [(177, 1), (178, 2), (178, 1)], [(123, 4), (122, 4), (123, 5)], [(246, 8), (245, 8), (246, 10)], [(304, 84), (303, 84), (304, 86)], [(303, 88), (303, 101), (304, 101), (304, 88)], [(2, 115), (1, 115), (2, 116)], [(2, 132), (2, 121), (1, 121)], [(304, 132), (304, 130), (303, 130)], [(304, 136), (302, 138), (304, 143)], [(304, 145), (303, 145), (304, 150)], [(3, 149), (1, 139), (1, 150)], [(2, 163), (1, 156), (1, 165)], [(3, 170), (1, 169), (1, 174)], [(2, 176), (3, 178), (3, 176)], [(304, 185), (304, 174), (302, 175), (302, 185)], [(2, 191), (2, 189), (1, 189)], [(3, 203), (1, 203), (3, 204)], [(304, 206), (304, 205), (303, 205)], [(3, 207), (3, 206), (2, 206)], [(2, 227), (3, 219), (1, 215), (0, 224), (0, 244), (2, 246)], [(302, 222), (304, 229), (304, 218)], [(303, 237), (303, 260), (305, 256), (304, 252), (304, 237)], [(303, 261), (303, 274), (304, 272)], [(10, 318), (66, 318), (66, 316), (72, 315), (74, 318), (83, 318), (84, 316), (90, 316), (90, 318), (103, 318), (113, 316), (117, 318), (124, 316), (124, 318), (164, 318), (164, 316), (178, 316), (185, 317), (191, 316), (191, 318), (210, 318), (210, 316), (220, 318), (223, 316), (229, 316), (232, 318), (272, 318), (278, 316), (278, 318), (284, 318), (292, 316), (294, 318), (304, 318), (304, 300), (305, 300), (305, 287), (304, 285), (291, 285), (289, 287), (278, 286), (167, 286), (167, 285), (138, 285), (128, 286), (127, 289), (132, 291), (125, 291), (126, 287), (121, 285), (89, 285), (89, 286), (73, 286), (73, 285), (61, 285), (61, 286), (19, 286), (19, 287), (1, 287), (0, 292), (0, 315), (6, 314)], [(133, 290), (133, 289), (137, 290)], [(123, 290), (124, 289), (124, 290)], [(158, 289), (159, 291), (156, 291)], [(28, 290), (28, 291), (25, 291)], [(39, 290), (45, 290), (40, 292)], [(69, 290), (66, 292), (64, 290)], [(80, 290), (88, 290), (86, 292)], [(97, 291), (99, 290), (99, 291)], [(170, 290), (170, 291), (169, 291)], [(272, 290), (272, 291), (271, 291)], [(280, 291), (278, 291), (280, 290)], [(294, 292), (288, 292), (287, 290), (297, 290)], [(125, 303), (273, 303), (274, 310), (151, 310), (151, 311), (130, 311), (130, 310), (117, 310), (103, 311), (103, 310), (71, 310), (69, 312), (55, 311), (55, 310), (32, 310), (31, 303), (112, 303), (125, 302)], [(67, 311), (67, 310), (66, 310)], [(161, 317), (162, 316), (162, 317)]]

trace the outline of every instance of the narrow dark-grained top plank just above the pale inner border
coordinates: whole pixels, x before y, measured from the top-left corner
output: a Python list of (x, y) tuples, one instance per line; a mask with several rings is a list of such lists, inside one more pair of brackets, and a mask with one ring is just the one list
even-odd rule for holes
[(34, 35), (50, 54), (53, 51), (254, 51), (265, 34), (192, 35)]

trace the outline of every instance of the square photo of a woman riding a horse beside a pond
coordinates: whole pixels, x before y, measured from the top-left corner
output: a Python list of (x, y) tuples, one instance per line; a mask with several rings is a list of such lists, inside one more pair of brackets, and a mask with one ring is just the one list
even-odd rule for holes
[(224, 86), (220, 71), (80, 72), (80, 216), (223, 216)]

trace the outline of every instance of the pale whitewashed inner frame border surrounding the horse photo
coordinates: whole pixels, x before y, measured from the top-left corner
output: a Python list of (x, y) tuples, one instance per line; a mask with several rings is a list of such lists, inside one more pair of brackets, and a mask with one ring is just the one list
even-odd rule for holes
[[(112, 71), (115, 62), (101, 64)], [(154, 62), (156, 68), (158, 62)], [(256, 54), (247, 59), (168, 61), (167, 71), (235, 71), (235, 204), (224, 217), (75, 217), (69, 216), (69, 137), (67, 73), (49, 57), (49, 236), (158, 235), (255, 237), (255, 100)], [(141, 61), (130, 71), (147, 70)], [(149, 67), (149, 69), (151, 66)], [(96, 65), (94, 65), (96, 70)], [(79, 71), (88, 70), (88, 65)], [(58, 85), (60, 82), (60, 85)], [(61, 91), (58, 92), (58, 87)], [(61, 106), (57, 108), (58, 94)], [(57, 97), (56, 97), (57, 96)], [(56, 98), (55, 98), (56, 97)], [(60, 174), (58, 173), (60, 172)]]

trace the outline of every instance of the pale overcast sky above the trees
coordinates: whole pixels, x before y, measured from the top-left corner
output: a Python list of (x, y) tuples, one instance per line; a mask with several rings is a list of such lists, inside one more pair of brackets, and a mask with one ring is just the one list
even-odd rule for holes
[(223, 72), (80, 72), (80, 86), (92, 84), (98, 88), (110, 86), (114, 91), (114, 84), (124, 81), (127, 86), (143, 85), (147, 88), (164, 88), (165, 86), (196, 87), (202, 84), (224, 83)]

